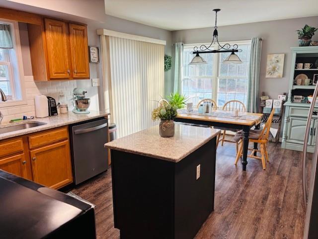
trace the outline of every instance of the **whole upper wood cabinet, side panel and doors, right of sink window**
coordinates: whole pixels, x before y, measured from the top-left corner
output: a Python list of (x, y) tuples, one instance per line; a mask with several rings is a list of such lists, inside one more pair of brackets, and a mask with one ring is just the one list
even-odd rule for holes
[(35, 81), (89, 79), (87, 27), (44, 18), (28, 24)]

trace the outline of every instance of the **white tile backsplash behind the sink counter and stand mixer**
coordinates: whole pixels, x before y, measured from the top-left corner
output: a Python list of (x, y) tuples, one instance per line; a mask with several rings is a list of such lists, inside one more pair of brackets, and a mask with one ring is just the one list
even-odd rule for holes
[(68, 101), (69, 110), (73, 109), (72, 95), (74, 87), (77, 87), (76, 80), (35, 82), (33, 76), (24, 76), (24, 86), (27, 104), (0, 108), (1, 113), (4, 115), (3, 122), (8, 122), (10, 119), (22, 118), (24, 115), (35, 116), (34, 96), (36, 95), (51, 96), (58, 103), (59, 93), (63, 91)]

